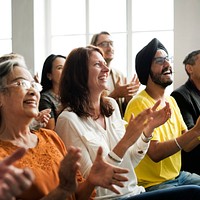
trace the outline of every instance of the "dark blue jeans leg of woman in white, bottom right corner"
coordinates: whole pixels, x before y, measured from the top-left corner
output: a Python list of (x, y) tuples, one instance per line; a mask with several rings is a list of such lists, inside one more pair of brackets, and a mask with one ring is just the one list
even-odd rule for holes
[(200, 186), (188, 185), (144, 192), (124, 200), (199, 200)]

